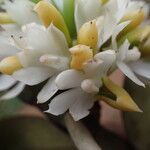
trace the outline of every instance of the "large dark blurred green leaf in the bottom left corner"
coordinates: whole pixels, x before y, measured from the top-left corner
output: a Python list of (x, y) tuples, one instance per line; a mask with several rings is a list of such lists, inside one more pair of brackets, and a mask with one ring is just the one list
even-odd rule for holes
[(5, 150), (75, 150), (67, 133), (41, 118), (0, 121), (0, 133), (0, 147)]

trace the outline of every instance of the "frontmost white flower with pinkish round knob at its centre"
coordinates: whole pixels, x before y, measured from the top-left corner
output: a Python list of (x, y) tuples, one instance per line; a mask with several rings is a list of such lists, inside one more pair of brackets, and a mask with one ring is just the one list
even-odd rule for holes
[(71, 90), (56, 96), (47, 112), (60, 115), (69, 110), (76, 121), (87, 116), (102, 86), (102, 78), (106, 76), (115, 59), (115, 51), (107, 50), (85, 62), (83, 72), (70, 69), (60, 73), (55, 81), (58, 89)]

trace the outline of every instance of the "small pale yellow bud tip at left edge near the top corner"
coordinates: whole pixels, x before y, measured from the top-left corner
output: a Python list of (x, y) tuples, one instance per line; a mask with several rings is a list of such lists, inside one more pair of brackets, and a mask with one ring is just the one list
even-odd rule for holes
[(1, 12), (0, 13), (0, 24), (10, 24), (14, 23), (14, 21), (10, 18), (7, 13)]

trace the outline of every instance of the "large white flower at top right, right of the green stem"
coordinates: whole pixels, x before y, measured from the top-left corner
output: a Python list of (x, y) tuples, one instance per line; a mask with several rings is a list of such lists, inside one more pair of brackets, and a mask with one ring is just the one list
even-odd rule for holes
[(75, 23), (77, 31), (90, 20), (104, 16), (102, 21), (101, 35), (103, 38), (98, 43), (101, 47), (112, 35), (114, 28), (121, 19), (129, 13), (143, 11), (148, 16), (149, 8), (145, 2), (131, 0), (109, 0), (105, 5), (100, 0), (76, 0), (75, 1)]

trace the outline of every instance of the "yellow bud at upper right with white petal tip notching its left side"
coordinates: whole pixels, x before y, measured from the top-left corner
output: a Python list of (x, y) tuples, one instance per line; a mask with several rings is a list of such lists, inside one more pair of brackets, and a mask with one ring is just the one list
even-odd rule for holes
[(125, 34), (136, 27), (138, 27), (145, 19), (145, 14), (142, 10), (140, 11), (134, 11), (131, 13), (127, 13), (121, 20), (121, 22), (124, 21), (131, 21), (130, 24), (121, 32), (122, 34)]

